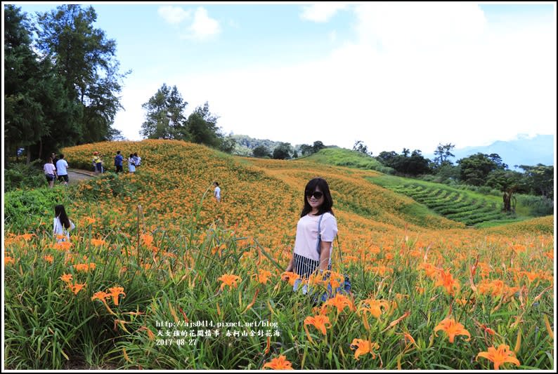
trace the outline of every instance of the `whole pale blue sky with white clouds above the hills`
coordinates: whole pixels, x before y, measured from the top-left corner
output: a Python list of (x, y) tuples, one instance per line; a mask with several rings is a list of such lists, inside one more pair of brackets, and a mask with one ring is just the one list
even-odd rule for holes
[[(13, 4), (18, 4), (17, 2)], [(82, 4), (86, 6), (86, 4)], [(18, 4), (34, 14), (56, 3)], [(224, 133), (432, 153), (554, 134), (555, 4), (93, 4), (139, 140), (163, 83)]]

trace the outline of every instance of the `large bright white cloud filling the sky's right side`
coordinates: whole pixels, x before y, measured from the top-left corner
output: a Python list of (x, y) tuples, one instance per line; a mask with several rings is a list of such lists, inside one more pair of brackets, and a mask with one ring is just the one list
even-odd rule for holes
[[(494, 27), (478, 8), (457, 6), (357, 7), (358, 39), (322, 60), (167, 81), (185, 93), (190, 111), (207, 100), (226, 133), (293, 145), (351, 148), (363, 140), (374, 154), (403, 147), (427, 154), (440, 142), (461, 148), (555, 133), (555, 24)], [(382, 21), (372, 27), (373, 20)], [(138, 87), (138, 105), (157, 88)]]

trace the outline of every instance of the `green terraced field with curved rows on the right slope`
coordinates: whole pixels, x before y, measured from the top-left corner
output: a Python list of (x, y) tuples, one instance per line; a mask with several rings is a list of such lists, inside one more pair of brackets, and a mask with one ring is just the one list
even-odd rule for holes
[(486, 221), (515, 218), (513, 213), (502, 212), (501, 204), (494, 196), (477, 196), (451, 187), (436, 187), (415, 182), (384, 187), (409, 196), (450, 220), (469, 226)]

